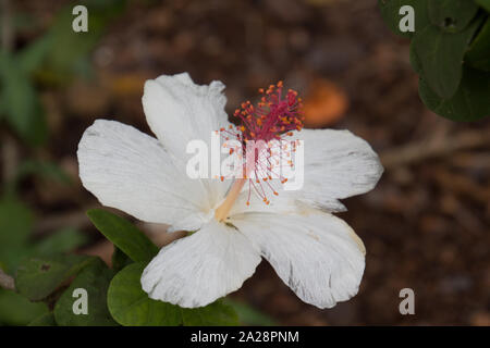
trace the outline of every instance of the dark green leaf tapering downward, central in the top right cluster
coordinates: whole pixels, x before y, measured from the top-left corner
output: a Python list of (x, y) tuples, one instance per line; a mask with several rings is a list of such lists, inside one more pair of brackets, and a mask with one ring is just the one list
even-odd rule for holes
[(456, 92), (462, 77), (463, 58), (478, 24), (479, 21), (475, 21), (457, 34), (427, 26), (415, 35), (412, 44), (421, 65), (421, 75), (440, 97), (450, 98)]

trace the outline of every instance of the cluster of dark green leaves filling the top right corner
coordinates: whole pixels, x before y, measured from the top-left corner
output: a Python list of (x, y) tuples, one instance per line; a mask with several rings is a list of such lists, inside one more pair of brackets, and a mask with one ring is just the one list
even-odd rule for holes
[[(378, 5), (390, 29), (412, 39), (411, 62), (430, 110), (453, 121), (490, 115), (489, 0), (378, 0)], [(400, 30), (403, 5), (414, 8), (414, 33)]]

